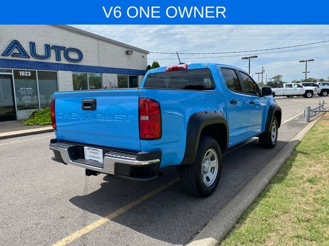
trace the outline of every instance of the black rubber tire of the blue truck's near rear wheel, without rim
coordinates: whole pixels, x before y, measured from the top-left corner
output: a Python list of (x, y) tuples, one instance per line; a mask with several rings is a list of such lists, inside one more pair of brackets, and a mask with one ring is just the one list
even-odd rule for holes
[[(214, 150), (217, 154), (218, 168), (213, 183), (210, 186), (206, 186), (202, 178), (203, 158), (210, 150)], [(220, 146), (214, 138), (201, 136), (195, 162), (190, 166), (182, 166), (179, 169), (180, 182), (188, 194), (199, 197), (207, 197), (216, 189), (218, 181), (220, 181), (221, 171), (222, 154)]]

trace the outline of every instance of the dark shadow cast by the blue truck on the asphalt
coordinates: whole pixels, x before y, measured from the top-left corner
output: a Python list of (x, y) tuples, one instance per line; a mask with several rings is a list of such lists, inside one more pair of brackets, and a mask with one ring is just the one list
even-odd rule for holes
[[(152, 240), (151, 244), (185, 244), (286, 144), (287, 141), (278, 141), (276, 148), (262, 149), (255, 139), (223, 157), (221, 180), (210, 197), (187, 195), (182, 191), (180, 183), (176, 182), (165, 191), (114, 218), (113, 222), (124, 226), (115, 229), (121, 230), (118, 234), (103, 231), (101, 236), (109, 237), (108, 242), (114, 245), (115, 241), (122, 243), (123, 235), (136, 232), (143, 234), (138, 236), (139, 240), (136, 240), (136, 235), (131, 236), (132, 238), (126, 236), (124, 243), (145, 245)], [(164, 170), (161, 178), (148, 183), (116, 179), (108, 175), (103, 177), (104, 182), (100, 189), (87, 195), (72, 197), (70, 202), (82, 210), (105, 217), (177, 177), (175, 168)], [(111, 224), (114, 228), (115, 223)]]

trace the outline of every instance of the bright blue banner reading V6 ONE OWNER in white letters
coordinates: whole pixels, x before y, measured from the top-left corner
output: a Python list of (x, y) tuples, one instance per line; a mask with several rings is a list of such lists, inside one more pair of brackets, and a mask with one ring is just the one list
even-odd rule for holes
[(2, 1), (0, 24), (329, 24), (329, 3), (232, 0)]

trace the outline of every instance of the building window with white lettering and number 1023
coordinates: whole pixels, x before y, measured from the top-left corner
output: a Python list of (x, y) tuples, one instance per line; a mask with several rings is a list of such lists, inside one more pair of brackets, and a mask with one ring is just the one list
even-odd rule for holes
[(39, 109), (36, 71), (14, 70), (17, 110)]

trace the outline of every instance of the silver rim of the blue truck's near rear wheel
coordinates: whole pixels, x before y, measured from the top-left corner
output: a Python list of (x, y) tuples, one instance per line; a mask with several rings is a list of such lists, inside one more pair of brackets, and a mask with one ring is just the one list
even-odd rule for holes
[(214, 149), (207, 150), (202, 159), (201, 176), (205, 186), (211, 186), (218, 172), (218, 156)]

